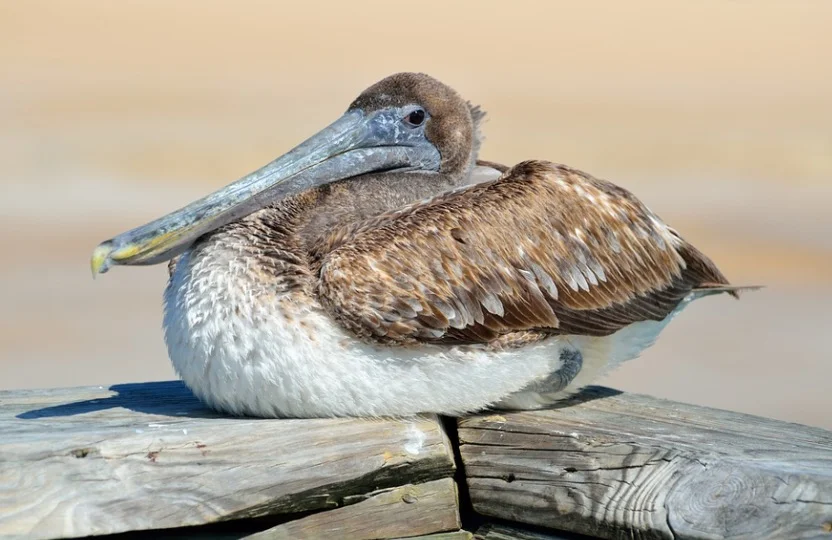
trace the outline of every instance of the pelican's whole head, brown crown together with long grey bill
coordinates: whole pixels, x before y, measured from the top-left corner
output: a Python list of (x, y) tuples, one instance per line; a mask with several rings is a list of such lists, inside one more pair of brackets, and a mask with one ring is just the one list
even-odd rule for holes
[(427, 75), (374, 84), (339, 119), (293, 150), (184, 208), (95, 248), (93, 276), (112, 265), (148, 265), (275, 201), (324, 184), (382, 172), (462, 175), (479, 146), (479, 109)]

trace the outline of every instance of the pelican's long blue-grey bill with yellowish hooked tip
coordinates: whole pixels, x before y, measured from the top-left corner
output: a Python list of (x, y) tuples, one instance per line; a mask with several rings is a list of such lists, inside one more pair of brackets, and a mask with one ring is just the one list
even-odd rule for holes
[(295, 149), (188, 206), (106, 240), (93, 251), (93, 277), (111, 265), (167, 261), (197, 238), (307, 189), (379, 170), (439, 169), (423, 126), (402, 123), (410, 107), (353, 109)]

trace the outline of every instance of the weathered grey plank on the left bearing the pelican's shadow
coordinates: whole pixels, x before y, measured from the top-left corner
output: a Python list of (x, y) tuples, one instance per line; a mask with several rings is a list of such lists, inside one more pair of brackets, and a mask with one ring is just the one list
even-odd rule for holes
[(336, 508), (453, 474), (435, 417), (262, 420), (179, 382), (0, 392), (0, 536), (77, 537)]

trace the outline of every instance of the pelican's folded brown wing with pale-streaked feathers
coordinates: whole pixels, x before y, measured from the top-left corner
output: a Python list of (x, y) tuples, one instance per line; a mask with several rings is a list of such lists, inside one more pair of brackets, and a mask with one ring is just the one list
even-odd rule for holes
[(324, 305), (395, 342), (607, 335), (727, 283), (629, 192), (540, 161), (339, 231), (320, 263)]

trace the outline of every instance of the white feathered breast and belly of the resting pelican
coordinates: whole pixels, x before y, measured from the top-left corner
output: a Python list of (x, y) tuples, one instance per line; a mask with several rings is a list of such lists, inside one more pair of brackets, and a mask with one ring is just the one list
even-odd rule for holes
[[(513, 332), (452, 345), (362, 338), (322, 305), (321, 272), (300, 247), (304, 214), (309, 219), (319, 204), (261, 210), (204, 238), (173, 265), (165, 291), (168, 351), (177, 373), (211, 406), (289, 417), (535, 408), (638, 356), (672, 317), (610, 336)], [(268, 222), (295, 227), (269, 231)], [(257, 230), (263, 232), (253, 235)], [(264, 252), (266, 240), (282, 249)], [(371, 277), (384, 279), (381, 272)], [(360, 276), (343, 279), (350, 287)], [(574, 351), (582, 366), (571, 384), (527, 389), (557, 374)]]

